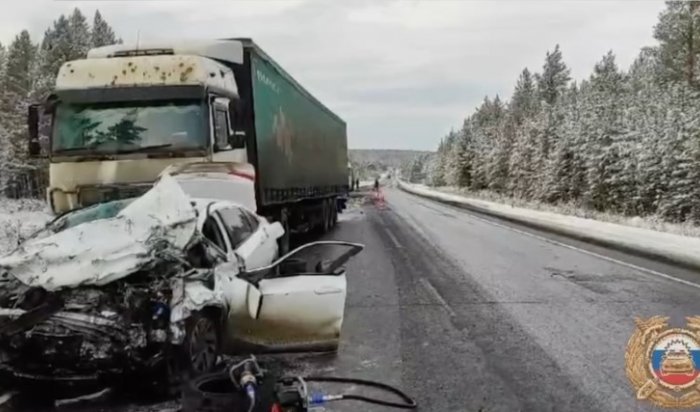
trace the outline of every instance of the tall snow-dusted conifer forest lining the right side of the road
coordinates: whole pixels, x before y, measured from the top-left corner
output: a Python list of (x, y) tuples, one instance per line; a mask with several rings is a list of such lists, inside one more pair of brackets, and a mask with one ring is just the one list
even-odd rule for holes
[(629, 68), (574, 81), (557, 45), (510, 100), (486, 97), (409, 180), (700, 223), (700, 2), (671, 1)]

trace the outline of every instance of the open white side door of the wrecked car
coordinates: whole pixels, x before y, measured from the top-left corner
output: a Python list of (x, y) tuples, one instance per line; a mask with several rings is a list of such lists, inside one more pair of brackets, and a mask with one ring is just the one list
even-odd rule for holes
[(239, 275), (251, 287), (234, 345), (251, 351), (335, 350), (345, 312), (345, 263), (363, 245), (301, 246), (270, 266)]

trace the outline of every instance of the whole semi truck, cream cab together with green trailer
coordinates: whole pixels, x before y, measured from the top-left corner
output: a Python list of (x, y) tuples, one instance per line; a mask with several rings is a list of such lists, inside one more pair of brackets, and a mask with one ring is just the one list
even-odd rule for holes
[(345, 122), (246, 38), (92, 49), (61, 66), (28, 125), (56, 214), (139, 195), (186, 163), (234, 165), (288, 234), (330, 229), (350, 189)]

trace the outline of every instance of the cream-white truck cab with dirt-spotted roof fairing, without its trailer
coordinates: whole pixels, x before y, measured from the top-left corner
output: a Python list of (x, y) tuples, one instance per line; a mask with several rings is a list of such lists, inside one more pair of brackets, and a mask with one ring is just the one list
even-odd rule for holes
[(66, 62), (46, 105), (52, 210), (144, 192), (172, 164), (247, 163), (238, 88), (219, 61), (242, 64), (242, 44), (120, 44)]

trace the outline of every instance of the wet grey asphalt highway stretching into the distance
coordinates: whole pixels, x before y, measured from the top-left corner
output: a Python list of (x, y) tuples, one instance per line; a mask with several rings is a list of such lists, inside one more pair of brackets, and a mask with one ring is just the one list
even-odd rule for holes
[(420, 411), (654, 410), (635, 400), (624, 374), (633, 319), (666, 315), (683, 326), (700, 314), (700, 289), (605, 251), (384, 193), (383, 206), (356, 201), (326, 236), (366, 245), (348, 264), (338, 354), (276, 357), (287, 372), (378, 379), (409, 392)]

